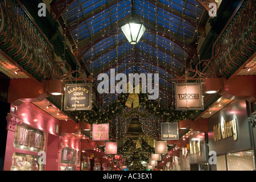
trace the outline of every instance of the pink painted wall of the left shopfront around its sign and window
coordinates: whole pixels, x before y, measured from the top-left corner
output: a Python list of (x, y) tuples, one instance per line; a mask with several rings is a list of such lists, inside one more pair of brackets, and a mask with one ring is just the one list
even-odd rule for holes
[[(56, 152), (56, 147), (58, 147), (57, 143), (59, 142), (59, 137), (55, 134), (55, 125), (59, 125), (59, 120), (52, 117), (45, 111), (39, 109), (30, 102), (25, 102), (17, 106), (17, 111), (15, 115), (22, 120), (23, 124), (33, 127), (34, 129), (41, 130), (45, 133), (45, 151), (47, 164), (44, 165), (44, 170), (57, 170), (56, 160), (58, 158), (56, 158), (57, 155), (53, 155), (51, 154), (51, 152)], [(14, 152), (29, 155), (38, 155), (38, 152), (15, 148), (14, 134), (15, 132), (11, 130), (8, 130), (7, 132), (5, 164), (3, 167), (4, 171), (10, 171), (12, 165), (12, 156)]]

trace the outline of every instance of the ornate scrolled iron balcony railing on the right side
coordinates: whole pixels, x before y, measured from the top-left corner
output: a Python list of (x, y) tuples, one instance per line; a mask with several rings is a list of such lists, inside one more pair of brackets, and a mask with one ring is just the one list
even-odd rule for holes
[(255, 1), (245, 1), (213, 44), (212, 57), (199, 61), (179, 79), (229, 77), (241, 67), (256, 50), (254, 9)]

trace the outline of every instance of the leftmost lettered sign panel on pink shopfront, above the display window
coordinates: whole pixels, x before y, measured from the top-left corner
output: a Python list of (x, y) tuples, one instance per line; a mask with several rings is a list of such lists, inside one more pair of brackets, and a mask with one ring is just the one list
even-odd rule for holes
[(29, 151), (44, 151), (45, 134), (27, 125), (16, 126), (14, 147)]

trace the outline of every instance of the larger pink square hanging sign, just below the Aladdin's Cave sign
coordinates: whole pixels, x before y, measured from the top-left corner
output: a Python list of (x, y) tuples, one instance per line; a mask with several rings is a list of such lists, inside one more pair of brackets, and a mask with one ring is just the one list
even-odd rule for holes
[(109, 140), (109, 123), (93, 124), (93, 140)]

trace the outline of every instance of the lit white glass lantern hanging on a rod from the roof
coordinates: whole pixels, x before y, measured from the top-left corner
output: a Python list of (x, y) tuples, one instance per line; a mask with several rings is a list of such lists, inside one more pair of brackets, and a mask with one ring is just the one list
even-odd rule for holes
[(133, 11), (131, 13), (130, 22), (122, 26), (121, 30), (130, 44), (137, 44), (146, 31), (146, 28), (141, 22), (139, 22), (135, 15), (134, 1), (132, 2), (132, 6)]

